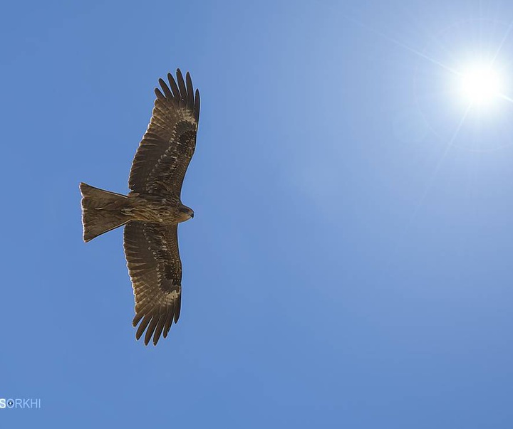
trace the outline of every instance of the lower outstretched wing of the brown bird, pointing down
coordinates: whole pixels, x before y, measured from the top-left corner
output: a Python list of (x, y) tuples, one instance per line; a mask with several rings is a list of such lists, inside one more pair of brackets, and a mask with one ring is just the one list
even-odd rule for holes
[(130, 221), (124, 233), (125, 256), (135, 295), (135, 337), (153, 336), (157, 344), (180, 317), (182, 262), (178, 252), (177, 226)]

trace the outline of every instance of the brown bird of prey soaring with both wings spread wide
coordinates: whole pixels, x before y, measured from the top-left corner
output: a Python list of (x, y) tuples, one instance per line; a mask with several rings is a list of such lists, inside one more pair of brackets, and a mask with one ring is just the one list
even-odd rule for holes
[(194, 217), (180, 199), (182, 183), (196, 147), (199, 91), (169, 73), (155, 88), (150, 125), (142, 137), (130, 169), (125, 196), (81, 183), (83, 240), (125, 226), (124, 248), (135, 295), (133, 326), (136, 339), (145, 334), (167, 337), (178, 322), (182, 300), (182, 262), (178, 251), (178, 223)]

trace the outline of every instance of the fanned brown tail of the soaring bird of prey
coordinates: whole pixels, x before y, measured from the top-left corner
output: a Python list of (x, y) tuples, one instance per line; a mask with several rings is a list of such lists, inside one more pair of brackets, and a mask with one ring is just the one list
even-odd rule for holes
[(84, 241), (93, 240), (98, 235), (130, 221), (130, 218), (121, 211), (126, 206), (126, 196), (103, 191), (84, 183), (80, 184), (80, 188)]

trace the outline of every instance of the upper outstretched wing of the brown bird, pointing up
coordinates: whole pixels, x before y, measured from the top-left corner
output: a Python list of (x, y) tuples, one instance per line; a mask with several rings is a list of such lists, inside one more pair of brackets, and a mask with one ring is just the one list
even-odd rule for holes
[[(177, 69), (177, 82), (167, 74), (169, 85), (159, 79), (155, 107), (130, 170), (132, 191), (180, 198), (185, 171), (196, 147), (199, 120), (199, 91), (192, 88)], [(171, 87), (171, 88), (170, 88)], [(163, 92), (163, 93), (162, 93)]]

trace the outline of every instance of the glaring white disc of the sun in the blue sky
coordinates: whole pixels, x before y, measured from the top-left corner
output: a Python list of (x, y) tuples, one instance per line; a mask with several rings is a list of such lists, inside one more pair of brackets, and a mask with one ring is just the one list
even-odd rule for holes
[(502, 78), (489, 65), (471, 65), (460, 75), (460, 92), (474, 106), (489, 105), (502, 92)]

